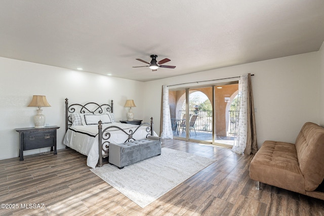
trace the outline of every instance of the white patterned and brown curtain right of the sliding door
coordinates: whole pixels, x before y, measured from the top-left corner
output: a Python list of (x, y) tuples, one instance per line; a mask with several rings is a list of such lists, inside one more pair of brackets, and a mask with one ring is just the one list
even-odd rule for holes
[(239, 101), (238, 127), (232, 151), (237, 154), (255, 154), (258, 151), (258, 145), (250, 73), (239, 77), (237, 97)]

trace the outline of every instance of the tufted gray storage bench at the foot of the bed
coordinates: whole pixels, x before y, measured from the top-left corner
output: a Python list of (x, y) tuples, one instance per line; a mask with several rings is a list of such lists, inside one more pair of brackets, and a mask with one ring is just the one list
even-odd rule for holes
[(119, 169), (132, 163), (161, 154), (161, 139), (148, 136), (127, 143), (109, 143), (109, 163)]

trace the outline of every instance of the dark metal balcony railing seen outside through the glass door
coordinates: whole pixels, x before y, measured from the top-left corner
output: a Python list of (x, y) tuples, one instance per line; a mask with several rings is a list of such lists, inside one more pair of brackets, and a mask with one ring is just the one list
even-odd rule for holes
[[(239, 111), (228, 111), (228, 134), (230, 135), (236, 135), (237, 133), (238, 113)], [(179, 110), (179, 118), (182, 118), (185, 114), (185, 110)], [(212, 132), (213, 111), (189, 111), (189, 119), (192, 115), (198, 116), (194, 124), (196, 131)]]

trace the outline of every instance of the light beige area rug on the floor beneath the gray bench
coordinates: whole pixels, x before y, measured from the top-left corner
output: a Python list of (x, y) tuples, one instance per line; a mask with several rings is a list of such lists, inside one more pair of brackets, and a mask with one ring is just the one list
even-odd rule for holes
[(173, 149), (118, 169), (111, 164), (90, 169), (142, 208), (213, 163), (214, 160)]

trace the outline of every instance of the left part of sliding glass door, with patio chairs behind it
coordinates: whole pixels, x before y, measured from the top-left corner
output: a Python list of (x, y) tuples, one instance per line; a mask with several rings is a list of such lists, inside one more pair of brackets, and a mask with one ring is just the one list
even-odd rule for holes
[(169, 90), (173, 135), (213, 142), (213, 87)]

